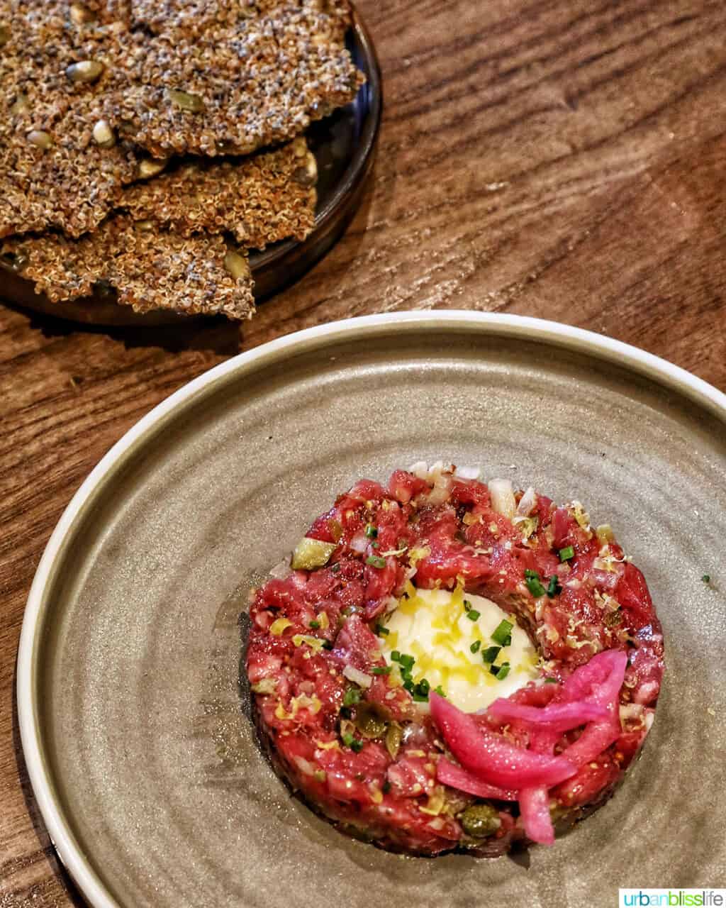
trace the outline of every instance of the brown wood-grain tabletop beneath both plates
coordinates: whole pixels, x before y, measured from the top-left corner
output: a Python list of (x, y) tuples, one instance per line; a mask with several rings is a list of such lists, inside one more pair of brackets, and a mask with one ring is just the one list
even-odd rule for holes
[(82, 903), (18, 739), (34, 569), (96, 461), (184, 382), (309, 325), (456, 308), (601, 331), (726, 390), (722, 0), (358, 7), (383, 69), (378, 162), (295, 287), (241, 329), (87, 331), (0, 305), (0, 908)]

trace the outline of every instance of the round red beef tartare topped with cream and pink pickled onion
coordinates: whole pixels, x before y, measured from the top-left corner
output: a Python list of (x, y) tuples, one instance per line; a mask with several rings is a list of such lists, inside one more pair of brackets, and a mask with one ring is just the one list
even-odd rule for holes
[(661, 626), (612, 529), (472, 475), (361, 479), (251, 594), (273, 764), (407, 854), (552, 844), (622, 780), (661, 686)]

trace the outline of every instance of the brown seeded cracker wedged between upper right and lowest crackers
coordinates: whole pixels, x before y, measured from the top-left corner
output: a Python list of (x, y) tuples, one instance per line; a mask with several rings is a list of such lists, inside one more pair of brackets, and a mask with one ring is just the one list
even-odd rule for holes
[(264, 249), (315, 223), (315, 158), (304, 137), (240, 162), (185, 163), (148, 183), (134, 183), (121, 207), (135, 221), (190, 236), (231, 232), (242, 246)]

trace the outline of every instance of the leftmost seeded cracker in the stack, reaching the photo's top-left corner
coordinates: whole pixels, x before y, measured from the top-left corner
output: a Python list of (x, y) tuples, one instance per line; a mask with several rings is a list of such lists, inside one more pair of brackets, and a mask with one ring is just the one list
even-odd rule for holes
[(0, 237), (92, 230), (136, 177), (135, 153), (93, 140), (113, 26), (75, 25), (63, 6), (0, 0)]

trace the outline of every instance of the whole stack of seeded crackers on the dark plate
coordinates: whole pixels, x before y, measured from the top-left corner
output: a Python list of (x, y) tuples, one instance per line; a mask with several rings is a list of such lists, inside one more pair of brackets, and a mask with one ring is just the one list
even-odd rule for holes
[(254, 309), (248, 254), (303, 240), (303, 135), (364, 77), (348, 0), (0, 0), (0, 242), (53, 301)]

